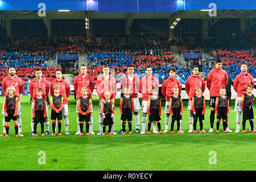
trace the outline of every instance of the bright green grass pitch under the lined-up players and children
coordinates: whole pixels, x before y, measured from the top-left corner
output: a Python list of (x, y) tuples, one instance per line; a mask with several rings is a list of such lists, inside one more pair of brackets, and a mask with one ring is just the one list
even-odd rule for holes
[[(1, 167), (0, 170), (253, 170), (255, 133), (222, 133), (216, 134), (216, 120), (214, 132), (205, 134), (187, 133), (189, 130), (187, 101), (184, 102), (184, 114), (181, 128), (184, 134), (151, 134), (141, 135), (135, 133), (133, 117), (133, 135), (105, 135), (98, 136), (98, 97), (93, 96), (93, 131), (96, 135), (79, 137), (75, 135), (76, 101), (69, 97), (69, 133), (63, 137), (28, 137), (31, 133), (31, 105), (30, 97), (21, 97), (22, 105), (22, 131), (25, 137), (15, 138), (13, 122), (10, 123), (10, 138), (0, 137)], [(2, 109), (3, 97), (0, 98)], [(164, 113), (164, 100), (162, 99), (162, 113)], [(119, 114), (119, 99), (115, 101), (115, 131), (121, 129)], [(50, 107), (49, 107), (50, 108)], [(236, 113), (234, 101), (230, 108), (228, 119), (229, 128), (236, 129)], [(49, 109), (50, 111), (50, 109)], [(49, 112), (50, 113), (50, 112)], [(255, 109), (254, 109), (254, 113)], [(142, 117), (141, 112), (140, 118)], [(208, 131), (210, 107), (207, 106), (204, 129)], [(256, 115), (256, 114), (254, 114)], [(2, 133), (2, 118), (0, 117), (0, 131)], [(161, 116), (161, 127), (164, 130), (164, 114)], [(64, 122), (63, 122), (64, 123)], [(126, 125), (126, 128), (128, 126)], [(85, 127), (84, 127), (85, 128)], [(147, 128), (147, 125), (146, 125)], [(108, 129), (108, 127), (107, 127)], [(176, 123), (175, 123), (176, 131)], [(241, 123), (242, 129), (242, 123)], [(199, 123), (197, 123), (197, 131)], [(249, 122), (246, 123), (249, 131)], [(40, 131), (40, 126), (38, 126)], [(52, 125), (50, 121), (50, 133)], [(169, 124), (170, 131), (170, 124)], [(152, 133), (152, 127), (151, 127)], [(46, 154), (46, 164), (39, 164), (42, 155)], [(212, 151), (216, 152), (216, 164), (213, 161)], [(210, 154), (210, 155), (209, 155)]]

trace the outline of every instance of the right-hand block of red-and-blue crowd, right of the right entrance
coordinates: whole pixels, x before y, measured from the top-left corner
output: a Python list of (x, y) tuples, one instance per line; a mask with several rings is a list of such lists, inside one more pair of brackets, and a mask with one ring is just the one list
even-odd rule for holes
[[(248, 71), (254, 78), (256, 57), (255, 57), (255, 32), (246, 34), (221, 34), (213, 41), (208, 42), (208, 51), (212, 60), (220, 57), (229, 77), (234, 78), (241, 72), (240, 65), (246, 64)], [(204, 67), (205, 75), (210, 71), (209, 67)]]

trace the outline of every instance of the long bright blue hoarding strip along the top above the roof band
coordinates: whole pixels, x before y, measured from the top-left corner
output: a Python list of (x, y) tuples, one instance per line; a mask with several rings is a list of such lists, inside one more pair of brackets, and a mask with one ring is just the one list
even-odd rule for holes
[(255, 0), (0, 0), (1, 11), (93, 10), (99, 13), (176, 13), (178, 10), (256, 10)]

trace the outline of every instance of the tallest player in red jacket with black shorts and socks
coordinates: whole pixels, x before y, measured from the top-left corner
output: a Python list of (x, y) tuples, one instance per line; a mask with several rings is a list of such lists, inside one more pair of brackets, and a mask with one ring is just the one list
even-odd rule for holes
[[(222, 60), (218, 58), (216, 60), (215, 66), (213, 67), (213, 70), (210, 71), (207, 75), (207, 88), (210, 91), (210, 130), (208, 132), (213, 132), (213, 124), (215, 119), (215, 103), (216, 98), (220, 95), (219, 90), (221, 88), (226, 88), (226, 85), (228, 84), (229, 78), (228, 73), (222, 69)], [(227, 122), (227, 121), (226, 121)], [(229, 132), (232, 132), (231, 130), (226, 128)]]

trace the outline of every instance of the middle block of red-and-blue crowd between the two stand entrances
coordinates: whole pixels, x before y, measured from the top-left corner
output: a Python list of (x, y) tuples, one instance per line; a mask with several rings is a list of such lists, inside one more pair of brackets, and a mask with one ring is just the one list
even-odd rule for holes
[[(177, 44), (175, 40), (167, 38), (156, 38), (155, 40), (137, 39), (132, 43), (108, 42), (88, 42), (88, 71), (94, 77), (102, 72), (102, 65), (109, 65), (112, 72), (121, 77), (125, 73), (128, 65), (135, 65), (135, 73), (140, 78), (144, 76), (144, 69), (151, 64), (154, 74), (159, 77), (159, 81), (167, 78), (164, 72), (168, 71), (176, 63), (172, 55), (170, 46)], [(114, 50), (115, 48), (115, 50)]]

